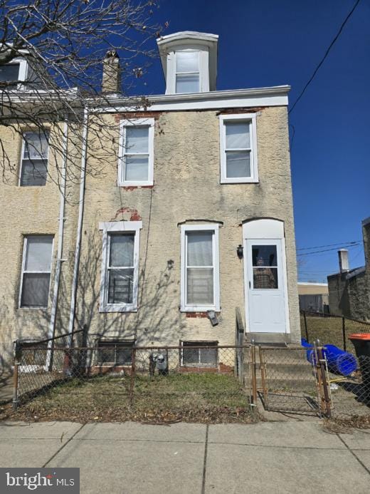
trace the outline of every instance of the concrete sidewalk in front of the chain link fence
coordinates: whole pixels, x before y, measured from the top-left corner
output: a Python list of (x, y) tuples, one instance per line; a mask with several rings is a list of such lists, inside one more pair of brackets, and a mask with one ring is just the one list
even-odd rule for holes
[(250, 425), (0, 423), (0, 466), (79, 467), (81, 493), (370, 492), (370, 431)]

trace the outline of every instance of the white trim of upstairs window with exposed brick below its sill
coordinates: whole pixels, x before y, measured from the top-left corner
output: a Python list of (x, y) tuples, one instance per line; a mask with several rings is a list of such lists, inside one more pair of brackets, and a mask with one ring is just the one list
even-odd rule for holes
[[(148, 133), (148, 180), (125, 180), (125, 128), (149, 127)], [(120, 150), (118, 153), (118, 186), (153, 185), (154, 175), (154, 118), (132, 118), (120, 121)]]

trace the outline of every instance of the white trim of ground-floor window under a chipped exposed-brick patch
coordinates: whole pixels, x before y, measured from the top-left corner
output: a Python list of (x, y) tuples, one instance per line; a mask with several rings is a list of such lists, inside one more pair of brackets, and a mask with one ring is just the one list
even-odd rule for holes
[[(100, 276), (100, 304), (99, 312), (137, 312), (137, 293), (139, 289), (139, 248), (140, 230), (142, 221), (115, 221), (99, 223), (99, 230), (102, 230), (102, 270)], [(107, 266), (109, 262), (109, 235), (112, 232), (134, 233), (134, 287), (132, 294), (132, 304), (108, 304), (108, 276)]]

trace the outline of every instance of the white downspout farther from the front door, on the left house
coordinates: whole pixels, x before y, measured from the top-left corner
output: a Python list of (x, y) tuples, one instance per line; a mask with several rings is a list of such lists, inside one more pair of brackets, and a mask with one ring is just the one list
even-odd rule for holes
[[(56, 258), (56, 276), (54, 278), (54, 289), (53, 289), (53, 301), (51, 302), (51, 317), (48, 329), (48, 339), (54, 337), (56, 331), (56, 311), (58, 308), (58, 294), (60, 285), (60, 272), (62, 269), (62, 255), (63, 255), (63, 235), (64, 235), (64, 210), (65, 210), (65, 184), (66, 184), (66, 170), (67, 170), (67, 153), (68, 153), (68, 118), (64, 120), (63, 126), (63, 164), (60, 170), (60, 205), (59, 205), (59, 228), (58, 228), (58, 251)], [(51, 366), (53, 365), (53, 351), (52, 351), (53, 341), (48, 341), (48, 351), (46, 354), (46, 369), (51, 371)]]

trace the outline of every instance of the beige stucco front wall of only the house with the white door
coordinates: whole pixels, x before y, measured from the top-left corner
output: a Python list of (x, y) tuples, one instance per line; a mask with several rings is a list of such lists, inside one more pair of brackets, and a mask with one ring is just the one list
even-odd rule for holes
[[(107, 118), (110, 124), (119, 120), (117, 115)], [(104, 180), (88, 177), (82, 265), (89, 264), (91, 252), (96, 252), (94, 270), (97, 273), (94, 287), (85, 293), (80, 289), (80, 299), (84, 299), (85, 304), (78, 312), (80, 326), (88, 324), (93, 334), (127, 337), (136, 334), (138, 344), (145, 345), (178, 344), (180, 339), (233, 344), (236, 307), (240, 307), (244, 315), (243, 261), (236, 255), (236, 247), (243, 243), (242, 222), (256, 217), (273, 217), (285, 222), (290, 330), (292, 341), (298, 341), (300, 326), (286, 108), (258, 111), (257, 131), (258, 184), (220, 185), (216, 111), (156, 115), (152, 189), (117, 187), (115, 165), (105, 169)], [(117, 153), (117, 146), (115, 151)], [(90, 164), (95, 166), (93, 158)], [(99, 314), (102, 233), (97, 230), (98, 224), (129, 220), (132, 215), (139, 215), (143, 222), (139, 311)], [(220, 323), (215, 327), (208, 319), (187, 317), (179, 311), (179, 223), (202, 223), (204, 220), (223, 222), (219, 230), (221, 313)], [(90, 312), (86, 310), (86, 304), (91, 307)]]

